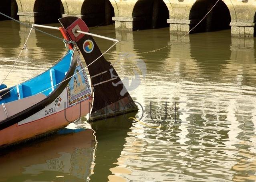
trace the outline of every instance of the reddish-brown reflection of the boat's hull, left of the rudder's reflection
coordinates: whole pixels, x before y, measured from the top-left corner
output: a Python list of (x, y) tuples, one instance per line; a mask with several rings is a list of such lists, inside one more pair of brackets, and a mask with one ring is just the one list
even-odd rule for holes
[(0, 156), (0, 181), (85, 181), (93, 163), (93, 133), (65, 128)]

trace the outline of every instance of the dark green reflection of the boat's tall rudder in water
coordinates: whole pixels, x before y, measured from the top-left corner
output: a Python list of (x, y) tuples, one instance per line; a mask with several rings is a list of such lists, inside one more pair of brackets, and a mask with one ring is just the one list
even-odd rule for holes
[[(137, 112), (92, 122), (97, 139), (97, 150), (95, 151), (95, 166), (90, 182), (109, 181), (112, 175), (111, 168), (118, 166), (117, 159), (120, 157), (126, 144), (128, 132), (131, 132), (132, 119)], [(117, 180), (119, 182), (119, 180)]]

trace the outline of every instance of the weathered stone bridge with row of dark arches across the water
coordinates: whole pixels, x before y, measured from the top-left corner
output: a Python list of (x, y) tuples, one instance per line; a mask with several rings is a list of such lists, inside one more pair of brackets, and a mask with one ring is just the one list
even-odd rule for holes
[[(170, 27), (171, 34), (191, 30), (217, 0), (1, 0), (0, 12), (29, 24), (57, 22), (77, 16), (89, 26), (115, 23), (117, 30)], [(231, 28), (233, 36), (256, 34), (256, 0), (219, 0), (193, 30), (207, 32)], [(0, 20), (4, 20), (0, 16)]]

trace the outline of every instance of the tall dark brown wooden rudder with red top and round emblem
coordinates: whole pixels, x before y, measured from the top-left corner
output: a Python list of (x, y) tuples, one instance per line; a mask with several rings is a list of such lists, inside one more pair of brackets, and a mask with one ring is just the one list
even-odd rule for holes
[[(112, 117), (137, 111), (136, 104), (127, 92), (115, 68), (104, 58), (93, 36), (114, 42), (119, 42), (119, 40), (90, 33), (85, 22), (77, 17), (64, 17), (60, 18), (59, 21), (67, 31), (69, 38), (77, 42), (77, 47), (81, 51), (85, 63), (90, 65), (88, 71), (94, 88), (91, 116), (100, 118), (101, 114), (106, 114)], [(121, 94), (124, 91), (126, 91), (125, 94)]]

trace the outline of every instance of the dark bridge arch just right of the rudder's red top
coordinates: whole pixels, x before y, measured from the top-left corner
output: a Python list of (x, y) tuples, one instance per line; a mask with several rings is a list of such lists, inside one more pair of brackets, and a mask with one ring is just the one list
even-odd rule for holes
[(115, 12), (109, 0), (85, 0), (81, 16), (88, 26), (110, 25)]

